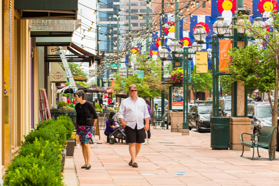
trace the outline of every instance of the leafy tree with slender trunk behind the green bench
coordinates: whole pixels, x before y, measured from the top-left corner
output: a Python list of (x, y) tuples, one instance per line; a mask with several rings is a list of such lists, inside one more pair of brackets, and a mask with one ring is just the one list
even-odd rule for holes
[[(278, 63), (278, 13), (271, 11), (269, 27), (273, 32), (266, 31), (267, 26), (258, 27), (257, 24), (244, 24), (250, 20), (244, 20), (235, 27), (247, 29), (248, 36), (253, 36), (256, 44), (250, 44), (246, 47), (232, 48), (229, 52), (228, 71), (232, 75), (228, 79), (230, 82), (244, 82), (246, 88), (259, 89), (261, 92), (268, 92), (268, 100), (272, 108), (272, 126), (277, 127), (277, 104), (278, 104), (278, 81), (279, 81), (279, 63)], [(263, 28), (264, 27), (264, 28)], [(262, 46), (262, 44), (264, 46)], [(275, 90), (274, 105), (271, 100), (271, 91)], [(270, 155), (275, 159), (276, 150), (275, 129), (271, 138)]]

